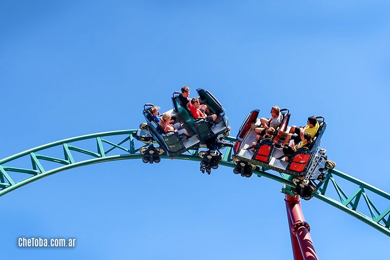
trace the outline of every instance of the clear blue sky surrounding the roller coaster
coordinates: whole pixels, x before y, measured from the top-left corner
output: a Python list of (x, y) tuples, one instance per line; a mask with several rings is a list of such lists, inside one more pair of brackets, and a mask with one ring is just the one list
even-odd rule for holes
[[(390, 191), (388, 1), (1, 1), (0, 158), (137, 128), (182, 85), (210, 90), (236, 135), (248, 112), (322, 115), (336, 168)], [(292, 259), (281, 184), (198, 162), (101, 163), (0, 198), (1, 259)], [(389, 205), (381, 205), (387, 207)], [(303, 201), (321, 260), (387, 259), (389, 237)], [(76, 238), (20, 249), (18, 237)]]

